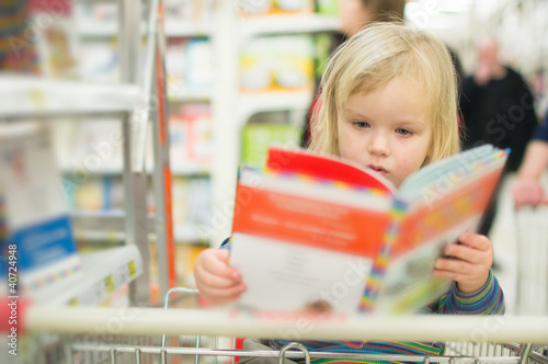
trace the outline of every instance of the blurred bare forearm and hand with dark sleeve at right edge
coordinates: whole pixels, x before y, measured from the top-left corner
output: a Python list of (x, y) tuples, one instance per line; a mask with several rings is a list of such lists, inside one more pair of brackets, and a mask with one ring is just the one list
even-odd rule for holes
[(512, 186), (514, 206), (536, 207), (548, 205), (548, 195), (540, 178), (548, 170), (548, 113), (544, 123), (538, 126), (527, 145), (523, 163), (517, 171), (517, 178)]

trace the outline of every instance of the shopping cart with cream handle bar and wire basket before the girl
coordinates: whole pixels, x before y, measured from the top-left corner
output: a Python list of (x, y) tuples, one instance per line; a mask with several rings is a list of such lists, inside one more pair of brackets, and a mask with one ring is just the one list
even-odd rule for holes
[[(195, 291), (178, 288), (186, 297)], [(170, 292), (172, 293), (172, 292)], [(170, 294), (169, 293), (169, 294)], [(168, 295), (169, 295), (168, 294)], [(165, 300), (169, 305), (169, 299)], [(165, 306), (168, 307), (168, 306)], [(27, 329), (49, 346), (27, 355), (28, 363), (233, 363), (238, 359), (372, 363), (536, 363), (548, 364), (548, 317), (256, 315), (244, 311), (179, 308), (31, 307)], [(295, 342), (281, 351), (241, 350), (240, 338), (299, 340), (418, 340), (446, 342), (439, 356), (309, 352)], [(38, 355), (39, 354), (39, 355)], [(273, 362), (274, 361), (274, 362)]]

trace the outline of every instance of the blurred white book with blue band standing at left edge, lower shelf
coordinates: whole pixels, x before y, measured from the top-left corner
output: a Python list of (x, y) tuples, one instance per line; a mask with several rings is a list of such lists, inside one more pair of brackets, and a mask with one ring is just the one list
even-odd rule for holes
[(19, 275), (11, 294), (33, 297), (81, 273), (48, 129), (38, 123), (2, 125), (0, 157), (8, 231), (2, 253), (15, 247), (10, 251)]

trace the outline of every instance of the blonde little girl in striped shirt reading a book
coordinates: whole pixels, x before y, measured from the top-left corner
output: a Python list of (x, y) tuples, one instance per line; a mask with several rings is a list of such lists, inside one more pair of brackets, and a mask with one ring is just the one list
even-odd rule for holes
[[(372, 24), (330, 59), (310, 148), (358, 163), (399, 186), (423, 166), (459, 151), (455, 84), (452, 58), (437, 38), (402, 24)], [(446, 247), (447, 258), (437, 259), (433, 272), (454, 284), (422, 311), (502, 314), (504, 298), (491, 272), (491, 242), (472, 232), (463, 234), (458, 242)], [(235, 300), (246, 289), (239, 272), (227, 263), (229, 247), (227, 239), (227, 249), (206, 250), (196, 261), (196, 286), (210, 304)], [(269, 346), (281, 349), (287, 343), (271, 340)], [(419, 342), (304, 344), (310, 351), (443, 352), (442, 344)]]

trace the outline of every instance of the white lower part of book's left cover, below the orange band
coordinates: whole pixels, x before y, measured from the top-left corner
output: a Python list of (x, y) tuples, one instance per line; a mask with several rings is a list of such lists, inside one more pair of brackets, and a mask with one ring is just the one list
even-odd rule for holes
[(248, 289), (239, 306), (260, 310), (347, 311), (358, 307), (372, 258), (235, 234), (230, 265)]

